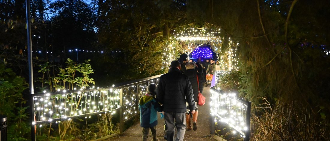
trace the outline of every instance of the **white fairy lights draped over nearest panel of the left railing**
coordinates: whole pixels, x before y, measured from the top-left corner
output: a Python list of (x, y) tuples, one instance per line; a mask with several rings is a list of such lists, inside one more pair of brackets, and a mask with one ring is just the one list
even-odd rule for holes
[(33, 96), (36, 121), (41, 124), (69, 120), (73, 117), (107, 113), (115, 114), (119, 106), (119, 92), (116, 89), (89, 89), (67, 93), (35, 94)]

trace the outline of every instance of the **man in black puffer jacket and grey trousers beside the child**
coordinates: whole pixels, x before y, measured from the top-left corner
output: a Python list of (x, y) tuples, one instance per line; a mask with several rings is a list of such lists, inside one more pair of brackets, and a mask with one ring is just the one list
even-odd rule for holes
[(163, 104), (168, 141), (174, 140), (174, 126), (177, 128), (175, 140), (183, 140), (186, 128), (186, 102), (191, 113), (195, 112), (195, 101), (190, 80), (181, 73), (180, 68), (179, 61), (171, 62), (168, 73), (160, 76), (158, 93), (156, 94), (158, 101)]

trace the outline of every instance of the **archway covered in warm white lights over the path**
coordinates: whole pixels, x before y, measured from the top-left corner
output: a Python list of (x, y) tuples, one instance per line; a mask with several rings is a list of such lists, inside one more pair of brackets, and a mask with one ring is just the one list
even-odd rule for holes
[(187, 59), (189, 59), (190, 53), (198, 46), (209, 44), (210, 49), (216, 53), (221, 70), (237, 70), (236, 51), (239, 43), (232, 41), (231, 38), (221, 37), (220, 33), (220, 29), (206, 27), (173, 30), (173, 38), (168, 42), (167, 48), (163, 50), (163, 67), (168, 67), (171, 61), (176, 60), (176, 57), (183, 53), (186, 53)]

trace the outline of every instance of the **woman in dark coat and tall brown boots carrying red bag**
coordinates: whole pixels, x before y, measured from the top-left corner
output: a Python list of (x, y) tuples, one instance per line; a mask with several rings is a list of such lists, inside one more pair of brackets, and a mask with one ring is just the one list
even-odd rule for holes
[[(199, 63), (198, 63), (199, 64)], [(197, 116), (198, 116), (198, 105), (197, 105), (197, 99), (198, 99), (198, 92), (203, 92), (204, 86), (203, 86), (203, 79), (202, 79), (202, 74), (197, 72), (197, 70), (194, 70), (194, 64), (192, 63), (187, 63), (186, 64), (186, 71), (183, 73), (184, 75), (188, 76), (191, 86), (192, 86), (192, 91), (194, 94), (194, 101), (195, 101), (195, 112), (192, 115), (192, 123), (193, 123), (193, 130), (197, 130)], [(198, 77), (198, 78), (197, 78)], [(186, 130), (189, 131), (191, 130), (191, 118), (189, 116), (189, 110), (187, 110), (188, 113), (186, 113)]]

